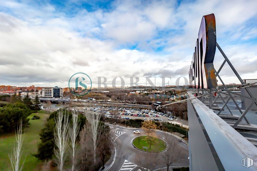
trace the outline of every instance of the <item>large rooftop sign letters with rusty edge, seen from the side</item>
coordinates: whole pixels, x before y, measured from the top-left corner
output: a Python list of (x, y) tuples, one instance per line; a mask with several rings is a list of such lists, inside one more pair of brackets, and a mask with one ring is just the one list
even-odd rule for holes
[(216, 51), (216, 22), (214, 14), (203, 16), (191, 62), (192, 88), (217, 87), (213, 65)]

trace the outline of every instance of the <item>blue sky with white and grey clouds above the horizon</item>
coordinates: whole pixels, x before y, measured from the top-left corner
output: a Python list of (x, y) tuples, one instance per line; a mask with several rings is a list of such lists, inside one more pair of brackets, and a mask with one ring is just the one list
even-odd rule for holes
[[(201, 19), (211, 13), (226, 56), (242, 79), (256, 79), (256, 7), (256, 0), (0, 0), (0, 84), (68, 87), (83, 72), (93, 87), (98, 77), (111, 86), (117, 76), (125, 86), (130, 77), (157, 86), (170, 77), (175, 85), (188, 79)], [(216, 70), (222, 58), (216, 50)], [(227, 64), (220, 76), (239, 83)]]

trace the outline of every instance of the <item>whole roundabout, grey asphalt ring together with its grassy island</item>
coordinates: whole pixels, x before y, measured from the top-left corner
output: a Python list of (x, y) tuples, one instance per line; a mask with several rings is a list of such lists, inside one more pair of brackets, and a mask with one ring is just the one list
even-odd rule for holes
[[(113, 160), (109, 160), (104, 171), (132, 171), (132, 170), (167, 170), (165, 162), (163, 162), (163, 155), (169, 150), (167, 143), (169, 139), (177, 141), (176, 148), (180, 151), (180, 160), (174, 162), (171, 167), (187, 167), (189, 166), (189, 150), (183, 142), (178, 141), (175, 137), (167, 135), (163, 132), (154, 132), (156, 143), (151, 144), (151, 151), (149, 141), (144, 141), (146, 132), (142, 129), (127, 128), (119, 125), (110, 125), (111, 138), (114, 143), (115, 150), (113, 151)], [(140, 136), (135, 134), (135, 130), (140, 130)], [(138, 145), (138, 137), (139, 145)], [(141, 139), (142, 138), (142, 139)], [(133, 145), (134, 141), (134, 145)], [(136, 145), (137, 143), (137, 145)], [(146, 148), (144, 148), (146, 147)], [(169, 146), (170, 147), (170, 144)]]

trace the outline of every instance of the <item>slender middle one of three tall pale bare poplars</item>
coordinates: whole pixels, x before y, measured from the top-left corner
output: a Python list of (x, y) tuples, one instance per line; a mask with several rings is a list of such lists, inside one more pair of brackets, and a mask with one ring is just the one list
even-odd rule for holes
[(76, 139), (79, 134), (79, 114), (78, 112), (74, 111), (72, 112), (72, 122), (69, 127), (69, 135), (71, 139), (71, 154), (72, 154), (72, 168), (71, 170), (74, 170), (74, 165), (75, 165), (75, 153), (77, 149), (77, 144), (76, 144)]

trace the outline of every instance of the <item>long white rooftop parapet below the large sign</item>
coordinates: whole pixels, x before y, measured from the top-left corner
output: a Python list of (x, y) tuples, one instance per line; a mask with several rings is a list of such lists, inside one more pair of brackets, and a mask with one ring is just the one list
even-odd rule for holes
[(188, 101), (188, 118), (190, 170), (257, 170), (257, 148), (199, 99)]

